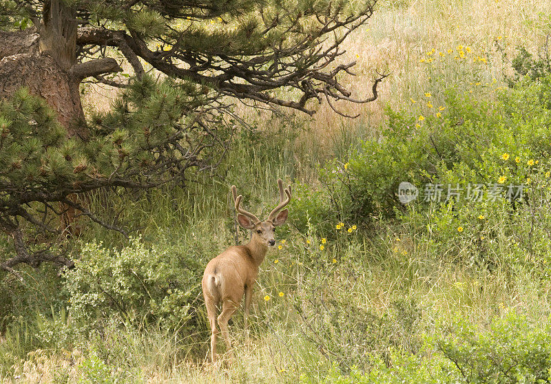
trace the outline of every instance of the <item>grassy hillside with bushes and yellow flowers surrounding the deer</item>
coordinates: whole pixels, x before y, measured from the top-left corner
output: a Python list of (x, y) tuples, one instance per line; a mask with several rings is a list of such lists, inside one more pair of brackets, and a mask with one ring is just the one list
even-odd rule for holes
[[(255, 129), (215, 177), (91, 196), (134, 237), (90, 223), (76, 270), (3, 277), (1, 381), (548, 381), (551, 80), (506, 80), (519, 45), (543, 52), (550, 14), (541, 1), (382, 2), (345, 47), (357, 97), (375, 70), (391, 72), (375, 103), (337, 105), (360, 118), (237, 105)], [(113, 96), (89, 89), (87, 108)], [(211, 365), (202, 270), (236, 236), (247, 242), (229, 184), (265, 216), (278, 178), (293, 184), (290, 219), (261, 266), (250, 336), (238, 311), (233, 357)], [(402, 206), (401, 181), (526, 189), (512, 202)]]

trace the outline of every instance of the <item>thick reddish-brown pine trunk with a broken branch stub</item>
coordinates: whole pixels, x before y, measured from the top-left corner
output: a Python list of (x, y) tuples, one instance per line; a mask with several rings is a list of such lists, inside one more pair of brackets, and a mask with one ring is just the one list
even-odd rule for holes
[(63, 0), (48, 0), (37, 30), (0, 32), (0, 99), (27, 87), (57, 111), (69, 136), (86, 140), (80, 83), (121, 68), (112, 58), (76, 63), (77, 27), (74, 8)]

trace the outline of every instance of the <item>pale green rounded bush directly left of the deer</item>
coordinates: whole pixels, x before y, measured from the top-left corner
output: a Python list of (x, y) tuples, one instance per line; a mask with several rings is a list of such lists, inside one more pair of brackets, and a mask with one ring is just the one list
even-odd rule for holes
[(149, 248), (138, 238), (121, 250), (86, 244), (66, 275), (70, 314), (84, 329), (101, 328), (114, 318), (188, 330), (198, 272), (178, 248)]

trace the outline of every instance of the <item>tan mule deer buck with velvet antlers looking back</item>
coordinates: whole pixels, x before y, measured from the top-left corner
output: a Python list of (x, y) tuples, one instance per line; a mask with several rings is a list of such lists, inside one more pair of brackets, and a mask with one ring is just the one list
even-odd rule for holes
[[(283, 189), (283, 182), (278, 180), (280, 204), (271, 211), (268, 218), (261, 222), (258, 217), (240, 207), (242, 195), (237, 195), (235, 185), (231, 186), (231, 194), (238, 212), (237, 220), (240, 226), (252, 231), (251, 240), (242, 246), (231, 246), (220, 255), (211, 259), (202, 277), (202, 294), (205, 297), (207, 316), (211, 326), (211, 360), (216, 362), (216, 339), (222, 332), (227, 349), (231, 349), (228, 321), (236, 312), (243, 294), (245, 294), (245, 332), (247, 332), (249, 307), (253, 286), (258, 275), (258, 266), (264, 261), (269, 246), (275, 245), (275, 227), (287, 220), (288, 209), (284, 206), (291, 201), (291, 186)], [(222, 304), (218, 317), (217, 306)], [(216, 321), (220, 331), (216, 328)]]

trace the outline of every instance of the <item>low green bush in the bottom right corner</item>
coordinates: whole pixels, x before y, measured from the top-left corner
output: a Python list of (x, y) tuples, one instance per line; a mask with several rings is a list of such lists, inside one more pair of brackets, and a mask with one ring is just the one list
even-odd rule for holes
[[(514, 311), (494, 319), (488, 329), (468, 319), (427, 338), (412, 354), (393, 349), (389, 361), (371, 355), (365, 373), (333, 366), (325, 383), (548, 383), (551, 379), (551, 323), (533, 323)], [(307, 382), (307, 381), (306, 381)]]

